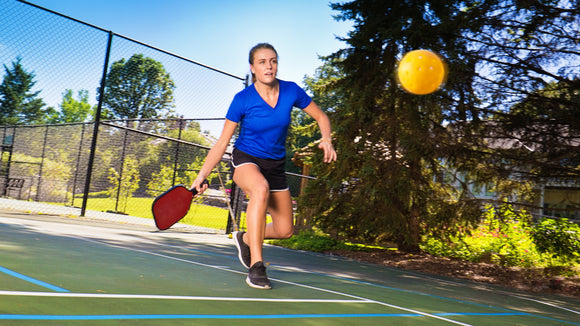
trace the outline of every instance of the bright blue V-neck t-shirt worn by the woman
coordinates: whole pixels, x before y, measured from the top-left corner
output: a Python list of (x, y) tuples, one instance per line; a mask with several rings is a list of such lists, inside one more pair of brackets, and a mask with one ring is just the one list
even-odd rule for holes
[(271, 107), (252, 84), (230, 104), (226, 119), (240, 124), (234, 146), (252, 156), (280, 160), (286, 156), (286, 136), (293, 107), (305, 109), (312, 99), (296, 83), (278, 80), (278, 103)]

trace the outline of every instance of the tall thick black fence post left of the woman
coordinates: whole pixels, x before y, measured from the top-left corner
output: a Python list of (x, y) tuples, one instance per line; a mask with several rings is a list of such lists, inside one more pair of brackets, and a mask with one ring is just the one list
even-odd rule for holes
[(95, 113), (95, 127), (93, 129), (93, 139), (91, 141), (91, 153), (89, 154), (89, 162), (87, 166), (87, 178), (85, 181), (85, 191), (83, 195), (83, 205), (81, 207), (81, 216), (85, 216), (87, 211), (87, 200), (89, 198), (89, 191), (91, 190), (91, 175), (93, 174), (93, 164), (95, 163), (95, 152), (97, 151), (97, 138), (99, 135), (99, 125), (101, 123), (101, 112), (103, 109), (103, 100), (105, 97), (105, 86), (107, 85), (107, 70), (109, 69), (109, 58), (111, 56), (111, 45), (113, 43), (113, 32), (109, 32), (109, 39), (107, 41), (107, 52), (105, 54), (105, 64), (103, 66), (103, 76), (101, 78), (101, 91), (99, 94), (99, 103), (97, 104), (97, 112)]

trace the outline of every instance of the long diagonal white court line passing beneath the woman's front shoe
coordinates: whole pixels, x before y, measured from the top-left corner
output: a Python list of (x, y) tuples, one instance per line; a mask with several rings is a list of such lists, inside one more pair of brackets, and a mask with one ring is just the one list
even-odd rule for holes
[[(111, 244), (111, 243), (107, 243), (107, 242), (101, 242), (101, 241), (93, 240), (93, 239), (87, 239), (87, 238), (83, 238), (83, 237), (77, 237), (77, 236), (71, 236), (71, 237), (72, 238), (81, 239), (81, 240), (85, 240), (85, 241), (88, 241), (88, 242), (94, 242), (94, 243), (104, 244), (104, 245), (111, 246), (111, 247), (117, 247), (117, 248), (121, 248), (121, 249), (125, 249), (125, 250), (131, 250), (131, 251), (140, 252), (140, 253), (149, 254), (149, 255), (158, 256), (158, 257), (163, 257), (163, 258), (167, 258), (167, 259), (171, 259), (171, 260), (181, 261), (181, 262), (185, 262), (185, 263), (189, 263), (189, 264), (194, 264), (194, 265), (199, 265), (199, 266), (203, 266), (203, 267), (214, 268), (214, 269), (218, 269), (218, 270), (222, 270), (222, 271), (227, 271), (227, 272), (232, 272), (232, 273), (246, 275), (246, 273), (244, 273), (244, 272), (232, 270), (230, 268), (224, 268), (224, 267), (221, 267), (221, 266), (214, 266), (214, 265), (204, 264), (204, 263), (200, 263), (200, 262), (196, 262), (196, 261), (192, 261), (192, 260), (187, 260), (187, 259), (183, 259), (183, 258), (177, 258), (177, 257), (173, 257), (173, 256), (159, 254), (159, 253), (156, 253), (156, 252), (142, 250), (142, 249), (124, 247), (124, 246), (120, 246), (120, 245), (115, 245), (115, 244)], [(402, 311), (407, 311), (407, 312), (411, 312), (411, 313), (414, 313), (414, 314), (419, 314), (419, 315), (422, 315), (422, 316), (425, 316), (425, 317), (431, 317), (431, 318), (435, 318), (435, 319), (447, 321), (447, 322), (452, 323), (452, 324), (463, 325), (463, 326), (471, 326), (471, 324), (465, 324), (465, 323), (462, 323), (462, 322), (458, 322), (458, 321), (455, 321), (455, 320), (452, 320), (452, 319), (448, 319), (448, 318), (445, 318), (445, 317), (441, 317), (441, 316), (433, 315), (433, 314), (430, 314), (430, 313), (422, 312), (422, 311), (419, 311), (419, 310), (414, 310), (414, 309), (409, 309), (409, 308), (405, 308), (405, 307), (401, 307), (401, 306), (396, 306), (396, 305), (392, 305), (392, 304), (389, 304), (389, 303), (386, 303), (386, 302), (371, 300), (371, 299), (368, 299), (368, 298), (363, 298), (363, 297), (359, 297), (359, 296), (352, 295), (352, 294), (348, 294), (348, 293), (344, 293), (344, 292), (338, 292), (338, 291), (333, 291), (333, 290), (329, 290), (329, 289), (323, 289), (323, 288), (319, 288), (319, 287), (314, 287), (314, 286), (300, 284), (300, 283), (295, 283), (295, 282), (284, 281), (284, 280), (275, 279), (275, 278), (270, 278), (270, 279), (271, 280), (274, 280), (274, 281), (277, 281), (277, 282), (280, 282), (280, 283), (285, 283), (285, 284), (294, 285), (294, 286), (298, 286), (298, 287), (303, 287), (303, 288), (307, 288), (307, 289), (312, 289), (312, 290), (316, 290), (316, 291), (320, 291), (320, 292), (326, 292), (326, 293), (331, 293), (331, 294), (336, 294), (336, 295), (340, 295), (340, 296), (345, 296), (345, 297), (357, 299), (356, 300), (357, 303), (363, 303), (363, 302), (364, 303), (375, 303), (375, 304), (378, 304), (378, 305), (382, 305), (382, 306), (386, 306), (386, 307), (390, 307), (390, 308), (394, 308), (394, 309), (398, 309), (398, 310), (402, 310)]]

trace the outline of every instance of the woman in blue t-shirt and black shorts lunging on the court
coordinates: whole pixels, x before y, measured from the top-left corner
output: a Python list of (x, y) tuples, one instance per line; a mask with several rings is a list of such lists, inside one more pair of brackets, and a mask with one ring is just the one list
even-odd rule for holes
[[(224, 155), (238, 124), (234, 144), (233, 180), (249, 197), (246, 209), (247, 232), (234, 232), (241, 263), (249, 268), (246, 283), (254, 288), (270, 289), (263, 263), (264, 239), (286, 239), (293, 234), (293, 211), (284, 163), (290, 111), (299, 107), (316, 120), (322, 139), (324, 162), (336, 161), (331, 142), (328, 116), (293, 82), (276, 78), (278, 53), (270, 44), (260, 43), (250, 51), (253, 84), (235, 95), (222, 134), (209, 151), (192, 188), (202, 193), (203, 185)], [(272, 223), (266, 224), (266, 212)]]

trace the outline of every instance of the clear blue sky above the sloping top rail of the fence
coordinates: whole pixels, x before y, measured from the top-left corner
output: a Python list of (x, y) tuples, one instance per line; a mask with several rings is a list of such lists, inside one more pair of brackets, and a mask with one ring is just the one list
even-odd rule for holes
[(279, 78), (302, 85), (343, 47), (351, 22), (338, 22), (325, 0), (29, 0), (219, 70), (244, 76), (248, 51), (269, 42), (280, 56)]

